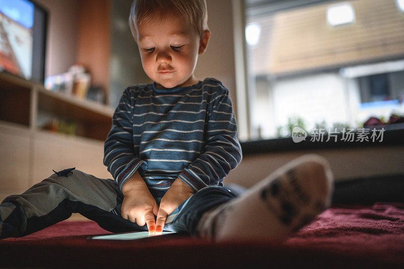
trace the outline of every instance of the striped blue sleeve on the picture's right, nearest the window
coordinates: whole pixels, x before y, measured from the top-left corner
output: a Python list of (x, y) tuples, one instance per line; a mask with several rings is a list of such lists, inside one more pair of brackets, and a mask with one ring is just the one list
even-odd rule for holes
[(242, 158), (237, 123), (229, 91), (225, 87), (211, 102), (205, 137), (204, 152), (178, 176), (194, 191), (218, 185)]

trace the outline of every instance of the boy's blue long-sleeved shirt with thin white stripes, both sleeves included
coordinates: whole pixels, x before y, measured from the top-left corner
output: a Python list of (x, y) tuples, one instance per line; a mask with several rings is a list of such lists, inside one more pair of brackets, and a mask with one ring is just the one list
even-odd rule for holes
[(126, 88), (104, 145), (104, 164), (120, 190), (139, 169), (150, 191), (163, 195), (177, 177), (194, 191), (222, 186), (241, 157), (229, 91), (213, 78), (172, 89)]

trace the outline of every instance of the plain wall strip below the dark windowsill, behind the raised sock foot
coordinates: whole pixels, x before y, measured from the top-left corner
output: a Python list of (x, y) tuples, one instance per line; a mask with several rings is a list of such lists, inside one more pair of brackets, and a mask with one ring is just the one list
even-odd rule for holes
[(332, 150), (275, 152), (244, 156), (242, 162), (225, 179), (251, 187), (277, 168), (304, 154), (318, 154), (326, 158), (335, 181), (382, 174), (404, 174), (404, 146), (369, 147)]

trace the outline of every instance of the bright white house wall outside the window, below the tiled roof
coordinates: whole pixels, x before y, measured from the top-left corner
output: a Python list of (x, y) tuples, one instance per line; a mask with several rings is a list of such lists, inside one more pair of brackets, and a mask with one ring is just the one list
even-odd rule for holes
[[(272, 93), (268, 98), (268, 107), (273, 109), (274, 118), (268, 119), (267, 114), (257, 109), (256, 122), (262, 124), (265, 136), (271, 138), (276, 137), (278, 126), (287, 125), (288, 119), (293, 117), (304, 119), (307, 130), (323, 120), (329, 127), (334, 122), (355, 126), (355, 122), (349, 122), (349, 100), (344, 86), (345, 81), (336, 72), (276, 80), (272, 82), (269, 89)], [(257, 96), (256, 100), (260, 99), (262, 97)]]

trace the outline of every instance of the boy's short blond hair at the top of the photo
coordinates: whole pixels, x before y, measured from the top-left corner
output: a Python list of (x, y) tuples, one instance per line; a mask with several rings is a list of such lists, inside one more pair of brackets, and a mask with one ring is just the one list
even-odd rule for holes
[(137, 40), (136, 25), (157, 14), (163, 19), (168, 14), (193, 25), (200, 37), (208, 30), (208, 11), (205, 0), (134, 0), (130, 9), (129, 26)]

